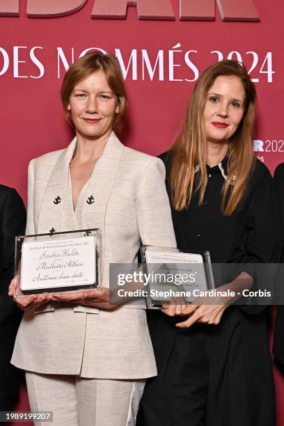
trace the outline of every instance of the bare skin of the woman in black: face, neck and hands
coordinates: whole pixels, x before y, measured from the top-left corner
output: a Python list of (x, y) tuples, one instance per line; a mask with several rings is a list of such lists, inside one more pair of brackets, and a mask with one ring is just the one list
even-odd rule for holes
[[(242, 81), (235, 76), (219, 76), (207, 93), (204, 124), (207, 135), (207, 164), (216, 166), (226, 156), (230, 137), (235, 133), (244, 116), (245, 91)], [(219, 291), (232, 290), (242, 293), (253, 285), (251, 276), (242, 272), (234, 281), (218, 287)], [(173, 301), (164, 304), (166, 315), (185, 315), (184, 322), (176, 324), (188, 328), (195, 323), (219, 324), (221, 317), (239, 297), (198, 297), (190, 305)]]

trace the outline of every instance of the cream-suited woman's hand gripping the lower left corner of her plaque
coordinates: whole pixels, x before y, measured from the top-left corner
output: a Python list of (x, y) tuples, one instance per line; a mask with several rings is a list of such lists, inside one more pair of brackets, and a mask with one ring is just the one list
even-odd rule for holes
[(10, 282), (8, 295), (13, 297), (17, 306), (22, 310), (35, 310), (42, 303), (50, 300), (49, 294), (27, 294), (26, 296), (22, 294), (19, 288), (19, 276), (15, 276)]

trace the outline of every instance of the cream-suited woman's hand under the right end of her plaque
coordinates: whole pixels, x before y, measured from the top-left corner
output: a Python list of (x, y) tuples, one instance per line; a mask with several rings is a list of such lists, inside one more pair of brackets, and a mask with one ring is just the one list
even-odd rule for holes
[(109, 288), (85, 290), (79, 293), (52, 293), (50, 299), (53, 301), (63, 301), (68, 303), (77, 303), (78, 305), (92, 306), (98, 309), (115, 309), (118, 304), (110, 303)]

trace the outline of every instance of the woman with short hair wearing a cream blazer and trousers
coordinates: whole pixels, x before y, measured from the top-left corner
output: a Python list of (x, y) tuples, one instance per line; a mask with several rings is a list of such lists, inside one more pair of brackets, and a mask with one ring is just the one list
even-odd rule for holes
[(53, 411), (54, 425), (134, 425), (155, 358), (145, 310), (109, 303), (109, 263), (136, 263), (141, 242), (175, 246), (164, 165), (114, 132), (127, 105), (115, 58), (80, 58), (61, 98), (76, 137), (31, 161), (26, 234), (100, 228), (104, 289), (17, 299), (12, 363), (26, 370), (31, 410)]

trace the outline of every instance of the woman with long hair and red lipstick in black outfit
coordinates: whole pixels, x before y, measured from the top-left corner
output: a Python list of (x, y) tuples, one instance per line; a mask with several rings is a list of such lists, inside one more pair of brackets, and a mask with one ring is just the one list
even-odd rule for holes
[[(242, 65), (212, 65), (194, 88), (180, 136), (161, 155), (178, 248), (237, 263), (236, 279), (215, 283), (237, 292), (263, 285), (253, 280), (253, 264), (274, 260), (271, 175), (253, 156), (255, 98)], [(159, 375), (145, 386), (139, 425), (273, 426), (265, 306), (204, 301), (148, 313)]]

